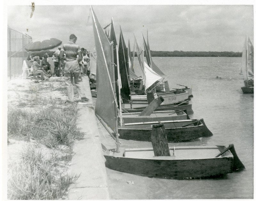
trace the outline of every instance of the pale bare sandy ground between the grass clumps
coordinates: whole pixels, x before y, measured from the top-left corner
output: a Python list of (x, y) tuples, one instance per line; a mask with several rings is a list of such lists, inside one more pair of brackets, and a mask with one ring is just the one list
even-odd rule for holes
[[(65, 107), (67, 100), (66, 87), (64, 77), (51, 77), (49, 80), (33, 82), (31, 79), (15, 78), (7, 82), (7, 104), (8, 109), (15, 108), (26, 112), (38, 112), (44, 109), (49, 104), (61, 103)], [(77, 98), (75, 98), (77, 100)], [(45, 104), (47, 102), (47, 104)], [(28, 147), (34, 146), (37, 150), (44, 153), (47, 159), (52, 153), (57, 153), (59, 156), (66, 154), (68, 147), (61, 145), (56, 149), (49, 149), (43, 144), (37, 143), (35, 140), (25, 142), (17, 138), (8, 137), (7, 145), (7, 171), (8, 178), (12, 173), (12, 167), (21, 158), (21, 153)], [(68, 169), (68, 167), (66, 167)], [(66, 197), (63, 197), (65, 199)]]

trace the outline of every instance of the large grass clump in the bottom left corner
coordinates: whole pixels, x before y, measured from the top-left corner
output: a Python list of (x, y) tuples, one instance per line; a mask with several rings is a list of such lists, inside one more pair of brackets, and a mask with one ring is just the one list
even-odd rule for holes
[(55, 200), (65, 197), (68, 186), (78, 176), (63, 174), (64, 170), (56, 165), (59, 162), (56, 156), (47, 159), (41, 150), (28, 147), (21, 161), (12, 167), (7, 185), (8, 199)]

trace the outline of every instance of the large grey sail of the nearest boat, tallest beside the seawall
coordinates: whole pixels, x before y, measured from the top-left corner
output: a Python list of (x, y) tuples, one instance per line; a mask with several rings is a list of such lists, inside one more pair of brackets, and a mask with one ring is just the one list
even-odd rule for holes
[[(92, 9), (92, 7), (91, 7)], [(93, 32), (95, 47), (97, 52), (97, 99), (95, 105), (95, 113), (104, 120), (108, 126), (115, 131), (116, 129), (116, 113), (117, 102), (112, 86), (112, 59), (111, 59), (111, 44), (100, 26), (97, 17), (92, 9)]]

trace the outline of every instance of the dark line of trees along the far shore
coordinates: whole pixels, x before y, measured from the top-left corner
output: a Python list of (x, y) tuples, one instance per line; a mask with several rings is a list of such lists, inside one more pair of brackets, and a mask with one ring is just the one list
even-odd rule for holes
[[(49, 57), (52, 57), (54, 51), (47, 51)], [(28, 52), (8, 52), (7, 56), (12, 57), (28, 57)], [(37, 55), (43, 57), (42, 55)], [(198, 51), (153, 51), (151, 50), (152, 57), (242, 57), (242, 52), (198, 52)], [(135, 52), (137, 57), (137, 52)]]

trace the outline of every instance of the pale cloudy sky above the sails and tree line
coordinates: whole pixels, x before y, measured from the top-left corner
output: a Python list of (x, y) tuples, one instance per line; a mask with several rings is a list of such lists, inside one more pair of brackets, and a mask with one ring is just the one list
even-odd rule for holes
[[(46, 1), (44, 4), (47, 5), (40, 5), (37, 2), (32, 18), (31, 1), (23, 5), (8, 5), (7, 25), (30, 35), (32, 39), (47, 36), (66, 43), (69, 35), (75, 34), (80, 48), (94, 48), (89, 5), (62, 4), (65, 1), (59, 1), (57, 5)], [(134, 35), (143, 45), (142, 34), (147, 37), (147, 30), (150, 49), (156, 51), (241, 52), (246, 34), (252, 43), (254, 41), (252, 1), (247, 5), (200, 5), (202, 1), (194, 1), (197, 5), (177, 5), (177, 2), (172, 5), (166, 2), (164, 5), (131, 5), (135, 1), (131, 1), (130, 5), (114, 5), (113, 1), (113, 4), (106, 1), (108, 5), (100, 5), (102, 2), (92, 5), (100, 25), (107, 26), (113, 17), (118, 42), (121, 26), (126, 45), (129, 39), (131, 47)]]

